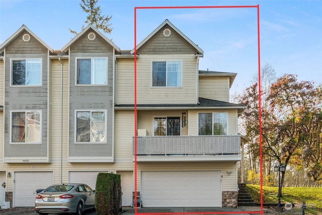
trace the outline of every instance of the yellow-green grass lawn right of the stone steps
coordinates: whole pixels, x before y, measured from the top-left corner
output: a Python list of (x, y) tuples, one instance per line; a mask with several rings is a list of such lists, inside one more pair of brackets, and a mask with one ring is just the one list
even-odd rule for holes
[[(246, 189), (255, 202), (261, 202), (259, 185), (247, 184)], [(263, 203), (277, 203), (277, 193), (278, 187), (263, 186)], [(295, 207), (301, 207), (305, 202), (305, 214), (322, 214), (322, 187), (283, 187), (281, 205), (284, 206), (286, 202), (295, 204)]]

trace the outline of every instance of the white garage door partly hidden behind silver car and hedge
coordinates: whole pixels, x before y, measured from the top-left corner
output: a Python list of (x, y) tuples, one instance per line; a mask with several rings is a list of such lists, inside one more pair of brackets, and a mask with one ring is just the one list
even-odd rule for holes
[(95, 190), (96, 178), (100, 172), (104, 172), (104, 171), (72, 171), (72, 172), (69, 172), (69, 183), (84, 183), (84, 184), (89, 185), (93, 190)]

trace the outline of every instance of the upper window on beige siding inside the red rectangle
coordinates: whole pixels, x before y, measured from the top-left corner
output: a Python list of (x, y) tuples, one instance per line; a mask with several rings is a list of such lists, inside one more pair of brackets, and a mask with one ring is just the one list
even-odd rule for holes
[(181, 61), (152, 62), (152, 87), (181, 87)]

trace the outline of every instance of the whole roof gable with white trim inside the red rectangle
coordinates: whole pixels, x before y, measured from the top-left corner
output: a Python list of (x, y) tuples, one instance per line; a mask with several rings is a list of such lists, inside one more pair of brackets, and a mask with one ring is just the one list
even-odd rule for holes
[[(134, 49), (131, 54), (134, 54)], [(136, 46), (137, 54), (198, 54), (203, 50), (177, 29), (169, 20), (165, 20), (152, 33)]]

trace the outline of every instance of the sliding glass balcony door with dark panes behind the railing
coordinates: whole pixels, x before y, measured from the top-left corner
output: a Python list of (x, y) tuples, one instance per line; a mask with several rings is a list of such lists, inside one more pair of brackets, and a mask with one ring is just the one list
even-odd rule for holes
[(180, 117), (154, 117), (154, 136), (179, 136)]

